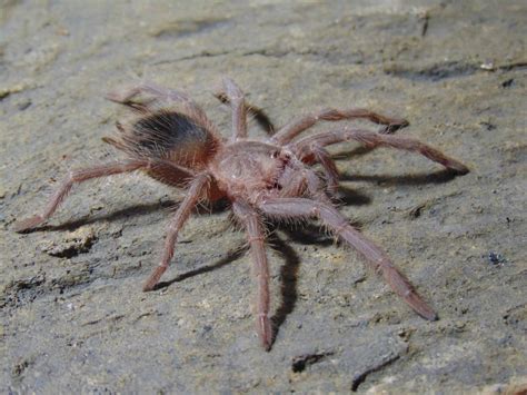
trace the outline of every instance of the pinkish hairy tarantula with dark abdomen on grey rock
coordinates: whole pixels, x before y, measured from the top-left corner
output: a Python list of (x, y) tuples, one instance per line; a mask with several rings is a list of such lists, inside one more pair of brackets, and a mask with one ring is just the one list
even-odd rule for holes
[[(140, 85), (126, 92), (110, 93), (108, 99), (135, 111), (126, 122), (117, 122), (118, 135), (103, 140), (126, 154), (118, 162), (98, 165), (70, 172), (42, 214), (16, 225), (26, 231), (46, 221), (76, 182), (97, 177), (142, 170), (148, 176), (187, 194), (168, 227), (161, 263), (143, 286), (151, 290), (168, 268), (179, 230), (199, 200), (228, 198), (235, 217), (243, 225), (258, 277), (258, 335), (265, 349), (274, 339), (269, 318), (269, 268), (265, 251), (264, 217), (278, 219), (318, 218), (341, 240), (366, 258), (407, 304), (426, 319), (437, 319), (434, 310), (417, 295), (409, 282), (396, 269), (388, 256), (362, 236), (337, 210), (330, 200), (338, 186), (338, 171), (326, 146), (356, 140), (367, 147), (392, 147), (416, 151), (459, 174), (467, 167), (415, 139), (348, 126), (295, 139), (319, 120), (337, 121), (364, 118), (385, 125), (384, 131), (408, 125), (365, 109), (336, 110), (299, 117), (278, 129), (266, 141), (247, 136), (247, 113), (262, 116), (248, 106), (243, 93), (229, 78), (218, 98), (232, 109), (232, 136), (222, 138), (203, 110), (188, 96), (153, 85)], [(319, 164), (322, 177), (311, 165)]]

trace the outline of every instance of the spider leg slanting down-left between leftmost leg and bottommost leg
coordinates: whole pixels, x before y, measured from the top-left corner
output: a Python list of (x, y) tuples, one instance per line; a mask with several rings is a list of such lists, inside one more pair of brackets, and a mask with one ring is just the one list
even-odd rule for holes
[(203, 192), (208, 190), (209, 185), (210, 176), (206, 172), (196, 176), (196, 178), (190, 182), (190, 187), (187, 190), (185, 199), (181, 201), (181, 205), (178, 207), (178, 210), (170, 220), (168, 234), (165, 239), (165, 249), (161, 263), (153, 269), (150, 277), (148, 277), (142, 290), (152, 290), (159, 283), (162, 274), (167, 270), (168, 265), (173, 257), (173, 250), (178, 239), (179, 230), (181, 230), (182, 226), (190, 217), (193, 207), (198, 204), (200, 198), (203, 197)]

